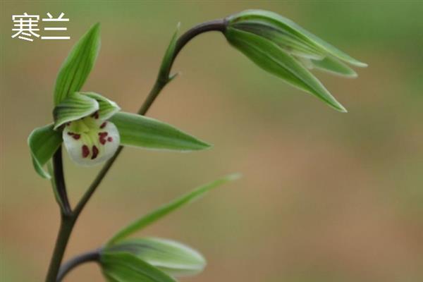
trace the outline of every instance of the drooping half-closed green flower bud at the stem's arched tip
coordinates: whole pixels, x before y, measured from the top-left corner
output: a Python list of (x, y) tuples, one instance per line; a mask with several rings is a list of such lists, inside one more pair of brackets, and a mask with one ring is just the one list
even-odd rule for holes
[[(228, 42), (257, 66), (314, 94), (338, 111), (345, 108), (308, 69), (355, 77), (346, 63), (367, 66), (276, 13), (248, 10), (226, 18)], [(321, 63), (320, 63), (321, 62)]]

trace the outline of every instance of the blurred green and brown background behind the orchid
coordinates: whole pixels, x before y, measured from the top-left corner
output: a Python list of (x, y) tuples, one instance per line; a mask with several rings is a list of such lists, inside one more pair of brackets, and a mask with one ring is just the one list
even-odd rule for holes
[[(181, 281), (423, 281), (421, 1), (1, 1), (1, 281), (43, 281), (59, 216), (26, 138), (51, 121), (56, 73), (102, 23), (84, 90), (136, 111), (178, 22), (182, 30), (246, 8), (295, 20), (369, 64), (350, 80), (317, 73), (349, 110), (264, 73), (218, 33), (178, 56), (182, 75), (149, 116), (214, 144), (191, 154), (125, 149), (78, 221), (66, 258), (128, 221), (226, 173), (243, 178), (147, 228), (208, 259)], [(71, 40), (11, 39), (13, 14), (66, 13)], [(99, 169), (66, 157), (72, 202)], [(103, 281), (85, 264), (66, 282)]]

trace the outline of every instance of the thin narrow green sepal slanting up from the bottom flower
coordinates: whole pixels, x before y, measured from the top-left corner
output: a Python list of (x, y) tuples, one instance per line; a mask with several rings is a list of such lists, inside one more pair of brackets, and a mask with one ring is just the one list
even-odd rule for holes
[(188, 192), (187, 194), (179, 197), (176, 200), (173, 200), (172, 202), (169, 202), (168, 204), (164, 204), (158, 209), (149, 212), (145, 216), (142, 216), (140, 219), (133, 221), (133, 223), (130, 223), (128, 226), (116, 233), (116, 235), (114, 235), (114, 237), (109, 240), (107, 245), (113, 245), (116, 242), (127, 238), (129, 235), (140, 231), (142, 228), (149, 226), (149, 224), (151, 223), (154, 223), (154, 221), (157, 221), (162, 217), (166, 216), (167, 214), (170, 214), (174, 210), (183, 207), (183, 205), (199, 199), (202, 195), (204, 195), (204, 193), (208, 192), (209, 190), (212, 190), (213, 188), (216, 188), (219, 185), (227, 183), (228, 181), (238, 179), (239, 177), (239, 174), (231, 174), (218, 180), (214, 180), (211, 183), (207, 183), (192, 190), (191, 192)]

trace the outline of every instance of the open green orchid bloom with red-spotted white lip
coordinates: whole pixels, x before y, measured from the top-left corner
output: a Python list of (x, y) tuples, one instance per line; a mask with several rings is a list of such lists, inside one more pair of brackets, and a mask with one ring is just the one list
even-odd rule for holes
[(64, 144), (79, 165), (92, 166), (110, 159), (119, 146), (192, 151), (210, 145), (171, 125), (120, 111), (109, 99), (80, 92), (99, 51), (99, 25), (75, 44), (63, 63), (54, 90), (54, 123), (36, 128), (28, 137), (32, 163), (40, 176), (50, 178), (43, 166)]

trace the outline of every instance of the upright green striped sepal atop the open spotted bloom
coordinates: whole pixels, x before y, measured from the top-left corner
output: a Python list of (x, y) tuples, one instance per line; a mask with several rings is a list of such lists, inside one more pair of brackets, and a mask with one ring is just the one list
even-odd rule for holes
[(99, 48), (100, 24), (97, 23), (73, 46), (71, 53), (61, 66), (54, 88), (55, 105), (82, 88), (97, 59)]

